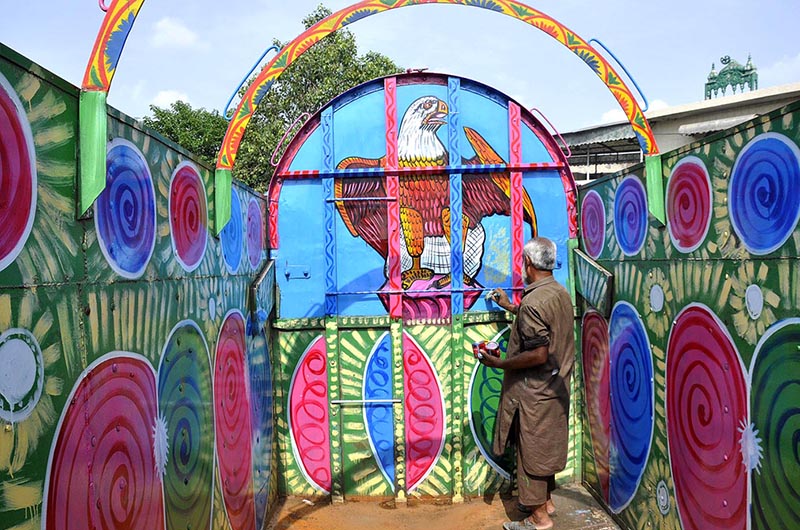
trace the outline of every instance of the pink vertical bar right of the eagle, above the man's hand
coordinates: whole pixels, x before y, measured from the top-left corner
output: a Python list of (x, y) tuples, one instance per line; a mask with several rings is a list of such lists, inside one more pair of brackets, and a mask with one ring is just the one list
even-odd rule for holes
[[(522, 120), (519, 105), (508, 103), (509, 163), (522, 162)], [(522, 172), (511, 172), (511, 284), (514, 303), (522, 298), (522, 247), (525, 244), (522, 210)]]

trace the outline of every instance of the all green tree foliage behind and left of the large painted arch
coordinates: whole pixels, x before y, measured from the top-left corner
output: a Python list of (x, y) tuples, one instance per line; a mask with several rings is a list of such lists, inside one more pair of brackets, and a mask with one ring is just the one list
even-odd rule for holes
[[(303, 25), (308, 29), (331, 13), (320, 4), (303, 19)], [(273, 44), (283, 48), (288, 42), (274, 40)], [(295, 120), (306, 112), (313, 115), (328, 101), (361, 83), (401, 71), (391, 59), (380, 53), (370, 51), (359, 55), (356, 39), (348, 30), (339, 30), (324, 38), (292, 63), (261, 101), (239, 145), (234, 177), (259, 191), (266, 191), (274, 171), (270, 163), (272, 154)], [(183, 112), (183, 106), (188, 107), (191, 113)], [(173, 103), (172, 109), (155, 106), (150, 109), (154, 117), (145, 118), (145, 124), (197, 154), (201, 154), (201, 146), (195, 142), (201, 137), (216, 135), (215, 140), (210, 141), (213, 146), (211, 156), (216, 160), (227, 126), (216, 111), (210, 113), (214, 116), (212, 126), (211, 119), (206, 123), (207, 111), (192, 110), (187, 103)], [(221, 132), (216, 117), (225, 124)], [(203, 127), (208, 127), (208, 131)], [(298, 128), (299, 125), (291, 133), (296, 133)], [(203, 134), (198, 134), (198, 131)], [(281, 146), (281, 149), (285, 148), (286, 145)], [(205, 157), (206, 151), (202, 153)]]

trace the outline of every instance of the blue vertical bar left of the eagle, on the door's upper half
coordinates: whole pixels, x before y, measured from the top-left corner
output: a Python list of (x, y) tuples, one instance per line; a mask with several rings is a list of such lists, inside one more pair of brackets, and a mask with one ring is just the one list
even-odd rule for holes
[[(333, 107), (322, 113), (322, 168), (333, 169)], [(336, 204), (333, 202), (333, 177), (322, 178), (325, 196), (325, 314), (336, 316), (339, 313), (336, 282)]]

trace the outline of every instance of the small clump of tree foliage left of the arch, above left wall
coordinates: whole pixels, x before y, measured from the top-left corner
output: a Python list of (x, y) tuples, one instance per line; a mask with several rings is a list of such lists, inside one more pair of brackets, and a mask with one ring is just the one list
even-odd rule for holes
[(219, 112), (193, 109), (184, 101), (176, 101), (166, 109), (150, 105), (150, 112), (153, 116), (145, 116), (142, 120), (145, 125), (214, 166), (228, 128), (228, 122)]

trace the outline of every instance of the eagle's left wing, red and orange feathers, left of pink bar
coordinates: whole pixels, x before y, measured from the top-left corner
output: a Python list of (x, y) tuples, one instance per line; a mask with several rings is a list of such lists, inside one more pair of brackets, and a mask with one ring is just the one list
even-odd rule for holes
[[(336, 166), (337, 169), (363, 169), (382, 167), (385, 157), (378, 159), (350, 157)], [(345, 226), (354, 237), (361, 237), (384, 259), (389, 254), (387, 244), (387, 204), (383, 197), (386, 188), (381, 177), (346, 177), (334, 180), (334, 197), (346, 200), (336, 203)]]

